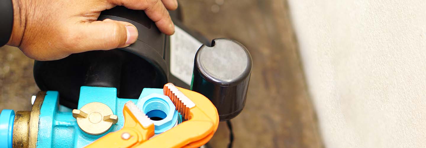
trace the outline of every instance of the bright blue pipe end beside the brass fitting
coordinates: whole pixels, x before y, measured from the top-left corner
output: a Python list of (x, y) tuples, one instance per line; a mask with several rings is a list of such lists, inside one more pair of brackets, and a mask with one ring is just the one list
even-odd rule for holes
[(2, 110), (0, 113), (0, 148), (12, 148), (12, 132), (15, 112)]

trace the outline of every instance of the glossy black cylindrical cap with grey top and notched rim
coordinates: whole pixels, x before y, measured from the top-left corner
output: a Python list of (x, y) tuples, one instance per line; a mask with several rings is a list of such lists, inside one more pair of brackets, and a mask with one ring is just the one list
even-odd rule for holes
[(220, 121), (241, 113), (245, 105), (252, 59), (239, 42), (214, 39), (201, 46), (194, 61), (191, 89), (206, 96), (216, 106)]

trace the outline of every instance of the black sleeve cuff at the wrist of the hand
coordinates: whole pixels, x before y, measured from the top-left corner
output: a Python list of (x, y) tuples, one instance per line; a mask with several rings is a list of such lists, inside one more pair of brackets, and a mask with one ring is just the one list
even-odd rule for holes
[(13, 29), (12, 0), (0, 0), (0, 47), (9, 42)]

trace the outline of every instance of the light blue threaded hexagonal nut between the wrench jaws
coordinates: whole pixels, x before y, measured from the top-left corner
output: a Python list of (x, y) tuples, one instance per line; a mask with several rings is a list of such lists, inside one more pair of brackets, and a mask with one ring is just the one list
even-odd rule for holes
[(163, 133), (177, 125), (178, 112), (168, 96), (151, 93), (139, 99), (136, 106), (154, 123), (155, 134)]

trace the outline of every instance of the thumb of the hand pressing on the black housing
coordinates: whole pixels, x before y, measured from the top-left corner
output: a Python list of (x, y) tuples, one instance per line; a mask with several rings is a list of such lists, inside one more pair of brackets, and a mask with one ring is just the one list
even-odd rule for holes
[(128, 22), (105, 19), (79, 26), (76, 29), (79, 33), (76, 35), (84, 41), (72, 41), (78, 42), (74, 44), (77, 46), (72, 49), (72, 53), (123, 48), (130, 46), (138, 39), (138, 29)]

